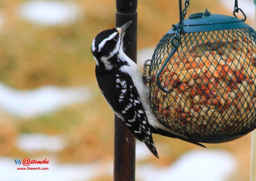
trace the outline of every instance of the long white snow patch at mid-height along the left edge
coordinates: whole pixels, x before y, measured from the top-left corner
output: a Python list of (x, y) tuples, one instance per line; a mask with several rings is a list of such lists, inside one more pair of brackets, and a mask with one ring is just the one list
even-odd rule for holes
[(91, 98), (86, 87), (43, 86), (17, 90), (0, 83), (0, 110), (19, 117), (35, 117)]

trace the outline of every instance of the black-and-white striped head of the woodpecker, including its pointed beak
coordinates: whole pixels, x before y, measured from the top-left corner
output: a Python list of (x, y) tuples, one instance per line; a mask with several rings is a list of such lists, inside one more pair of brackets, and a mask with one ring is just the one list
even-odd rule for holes
[(92, 41), (91, 51), (96, 61), (96, 65), (104, 65), (106, 69), (111, 69), (114, 60), (121, 47), (125, 30), (132, 21), (128, 21), (123, 26), (102, 31)]

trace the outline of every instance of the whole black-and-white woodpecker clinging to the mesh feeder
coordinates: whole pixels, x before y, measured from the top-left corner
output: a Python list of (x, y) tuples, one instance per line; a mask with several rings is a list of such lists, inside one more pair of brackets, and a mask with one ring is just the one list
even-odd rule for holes
[(91, 50), (96, 61), (96, 79), (102, 94), (115, 114), (132, 134), (144, 142), (158, 157), (153, 133), (180, 138), (202, 146), (163, 126), (154, 116), (149, 103), (148, 87), (144, 85), (141, 70), (123, 51), (122, 39), (131, 24), (99, 33)]

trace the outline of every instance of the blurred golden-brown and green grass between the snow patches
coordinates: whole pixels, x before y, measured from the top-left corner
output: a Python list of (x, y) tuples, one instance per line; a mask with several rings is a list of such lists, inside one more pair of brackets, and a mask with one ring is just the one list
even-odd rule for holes
[[(26, 0), (0, 0), (4, 22), (0, 28), (0, 82), (16, 89), (33, 89), (42, 85), (90, 87), (91, 101), (69, 106), (35, 118), (18, 118), (0, 114), (0, 155), (28, 157), (15, 147), (22, 133), (62, 134), (68, 146), (56, 153), (61, 162), (88, 163), (113, 159), (113, 113), (96, 84), (95, 61), (91, 42), (102, 30), (115, 26), (114, 0), (73, 0), (81, 8), (80, 18), (68, 25), (45, 26), (19, 18), (18, 7)], [(231, 4), (233, 7), (234, 5)], [(188, 13), (208, 11), (232, 12), (212, 0), (191, 0)], [(160, 38), (179, 21), (178, 0), (138, 1), (138, 50), (156, 46)], [(247, 22), (251, 23), (251, 22)], [(250, 134), (223, 144), (205, 144), (208, 148), (231, 152), (238, 159), (235, 180), (249, 180)], [(183, 153), (198, 148), (177, 139), (154, 135), (160, 159), (153, 156), (144, 162), (159, 167), (170, 165)], [(30, 153), (33, 154), (33, 153)], [(42, 153), (35, 153), (42, 154)], [(138, 163), (139, 164), (139, 163)], [(232, 178), (231, 178), (232, 179)], [(111, 180), (99, 176), (94, 180)]]

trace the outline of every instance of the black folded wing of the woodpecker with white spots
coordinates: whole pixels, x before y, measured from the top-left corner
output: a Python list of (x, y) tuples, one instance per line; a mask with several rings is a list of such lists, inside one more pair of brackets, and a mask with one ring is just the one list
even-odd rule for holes
[(116, 74), (105, 75), (104, 79), (109, 84), (101, 83), (99, 81), (102, 78), (97, 78), (98, 84), (115, 114), (158, 157), (143, 105), (130, 75), (118, 71)]

